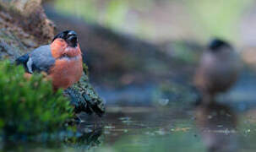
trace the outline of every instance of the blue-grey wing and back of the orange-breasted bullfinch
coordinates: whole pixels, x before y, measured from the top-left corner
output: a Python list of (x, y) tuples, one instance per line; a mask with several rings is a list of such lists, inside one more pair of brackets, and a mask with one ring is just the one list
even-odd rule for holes
[(48, 73), (54, 65), (55, 58), (52, 57), (50, 46), (40, 46), (34, 51), (16, 59), (17, 64), (23, 64), (28, 73), (44, 71)]

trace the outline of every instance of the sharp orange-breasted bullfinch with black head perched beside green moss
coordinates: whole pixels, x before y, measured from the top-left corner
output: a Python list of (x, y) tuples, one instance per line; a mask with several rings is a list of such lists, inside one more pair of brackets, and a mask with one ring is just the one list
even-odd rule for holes
[(50, 45), (40, 46), (16, 59), (27, 73), (45, 72), (52, 79), (53, 90), (67, 89), (83, 73), (82, 53), (74, 30), (57, 34)]

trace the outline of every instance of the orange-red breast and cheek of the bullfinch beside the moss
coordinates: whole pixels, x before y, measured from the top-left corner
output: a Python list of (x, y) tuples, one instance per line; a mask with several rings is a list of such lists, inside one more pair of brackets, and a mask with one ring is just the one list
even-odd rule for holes
[(54, 67), (50, 69), (50, 77), (54, 90), (67, 89), (78, 82), (83, 73), (82, 53), (79, 45), (70, 47), (57, 38), (51, 44), (52, 57), (56, 58)]

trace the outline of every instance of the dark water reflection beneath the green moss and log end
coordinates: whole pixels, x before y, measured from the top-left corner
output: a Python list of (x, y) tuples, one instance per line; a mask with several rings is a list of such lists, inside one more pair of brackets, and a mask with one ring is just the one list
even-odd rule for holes
[(61, 132), (47, 137), (43, 136), (27, 140), (8, 140), (0, 142), (0, 151), (87, 151), (98, 147), (103, 142), (102, 128), (83, 127), (83, 132)]

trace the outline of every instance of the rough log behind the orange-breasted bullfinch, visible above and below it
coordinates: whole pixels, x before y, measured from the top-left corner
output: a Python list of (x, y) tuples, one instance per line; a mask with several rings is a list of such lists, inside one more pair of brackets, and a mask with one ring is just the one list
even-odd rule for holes
[[(47, 19), (41, 0), (0, 0), (0, 60), (14, 59), (37, 46), (49, 43), (55, 26)], [(101, 116), (105, 106), (89, 83), (86, 74), (79, 83), (64, 90), (75, 111), (95, 112)]]

